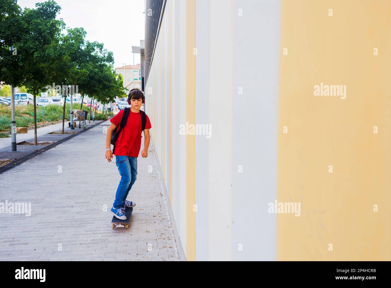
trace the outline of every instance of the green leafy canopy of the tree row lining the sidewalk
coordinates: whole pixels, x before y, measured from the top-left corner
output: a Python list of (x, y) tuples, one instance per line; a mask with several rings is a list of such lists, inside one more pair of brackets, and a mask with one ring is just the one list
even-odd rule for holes
[[(53, 83), (77, 86), (79, 93), (103, 104), (125, 94), (122, 76), (113, 68), (113, 53), (103, 43), (85, 40), (83, 28), (65, 29), (57, 19), (60, 11), (53, 0), (23, 10), (16, 0), (0, 0), (0, 81), (24, 85), (34, 95), (34, 119), (36, 95)], [(36, 123), (34, 130), (36, 136)]]

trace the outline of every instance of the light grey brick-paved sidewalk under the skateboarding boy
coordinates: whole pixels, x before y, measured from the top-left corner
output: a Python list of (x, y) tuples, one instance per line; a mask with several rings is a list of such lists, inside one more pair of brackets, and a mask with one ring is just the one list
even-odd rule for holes
[(129, 229), (111, 228), (120, 176), (104, 158), (109, 124), (0, 175), (0, 202), (30, 202), (32, 211), (0, 214), (0, 261), (179, 260), (152, 145), (138, 158)]

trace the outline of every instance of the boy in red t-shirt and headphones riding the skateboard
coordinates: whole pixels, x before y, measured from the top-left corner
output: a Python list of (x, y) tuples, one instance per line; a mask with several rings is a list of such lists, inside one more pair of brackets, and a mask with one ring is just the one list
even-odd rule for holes
[[(136, 206), (135, 202), (126, 200), (126, 197), (136, 181), (137, 157), (141, 148), (141, 131), (144, 131), (144, 149), (141, 151), (141, 156), (143, 158), (148, 157), (151, 122), (145, 112), (140, 110), (144, 99), (143, 92), (138, 88), (130, 90), (127, 102), (131, 105), (131, 108), (120, 110), (117, 115), (110, 119), (111, 125), (106, 135), (105, 157), (108, 162), (111, 162), (113, 154), (115, 155), (115, 163), (121, 175), (115, 201), (110, 212), (120, 220), (126, 220), (124, 212), (126, 207)], [(122, 119), (123, 117), (124, 119)], [(118, 127), (121, 126), (121, 121), (125, 124), (123, 127)], [(115, 131), (114, 140), (112, 139), (113, 131)], [(111, 143), (114, 144), (113, 151), (111, 151)]]

